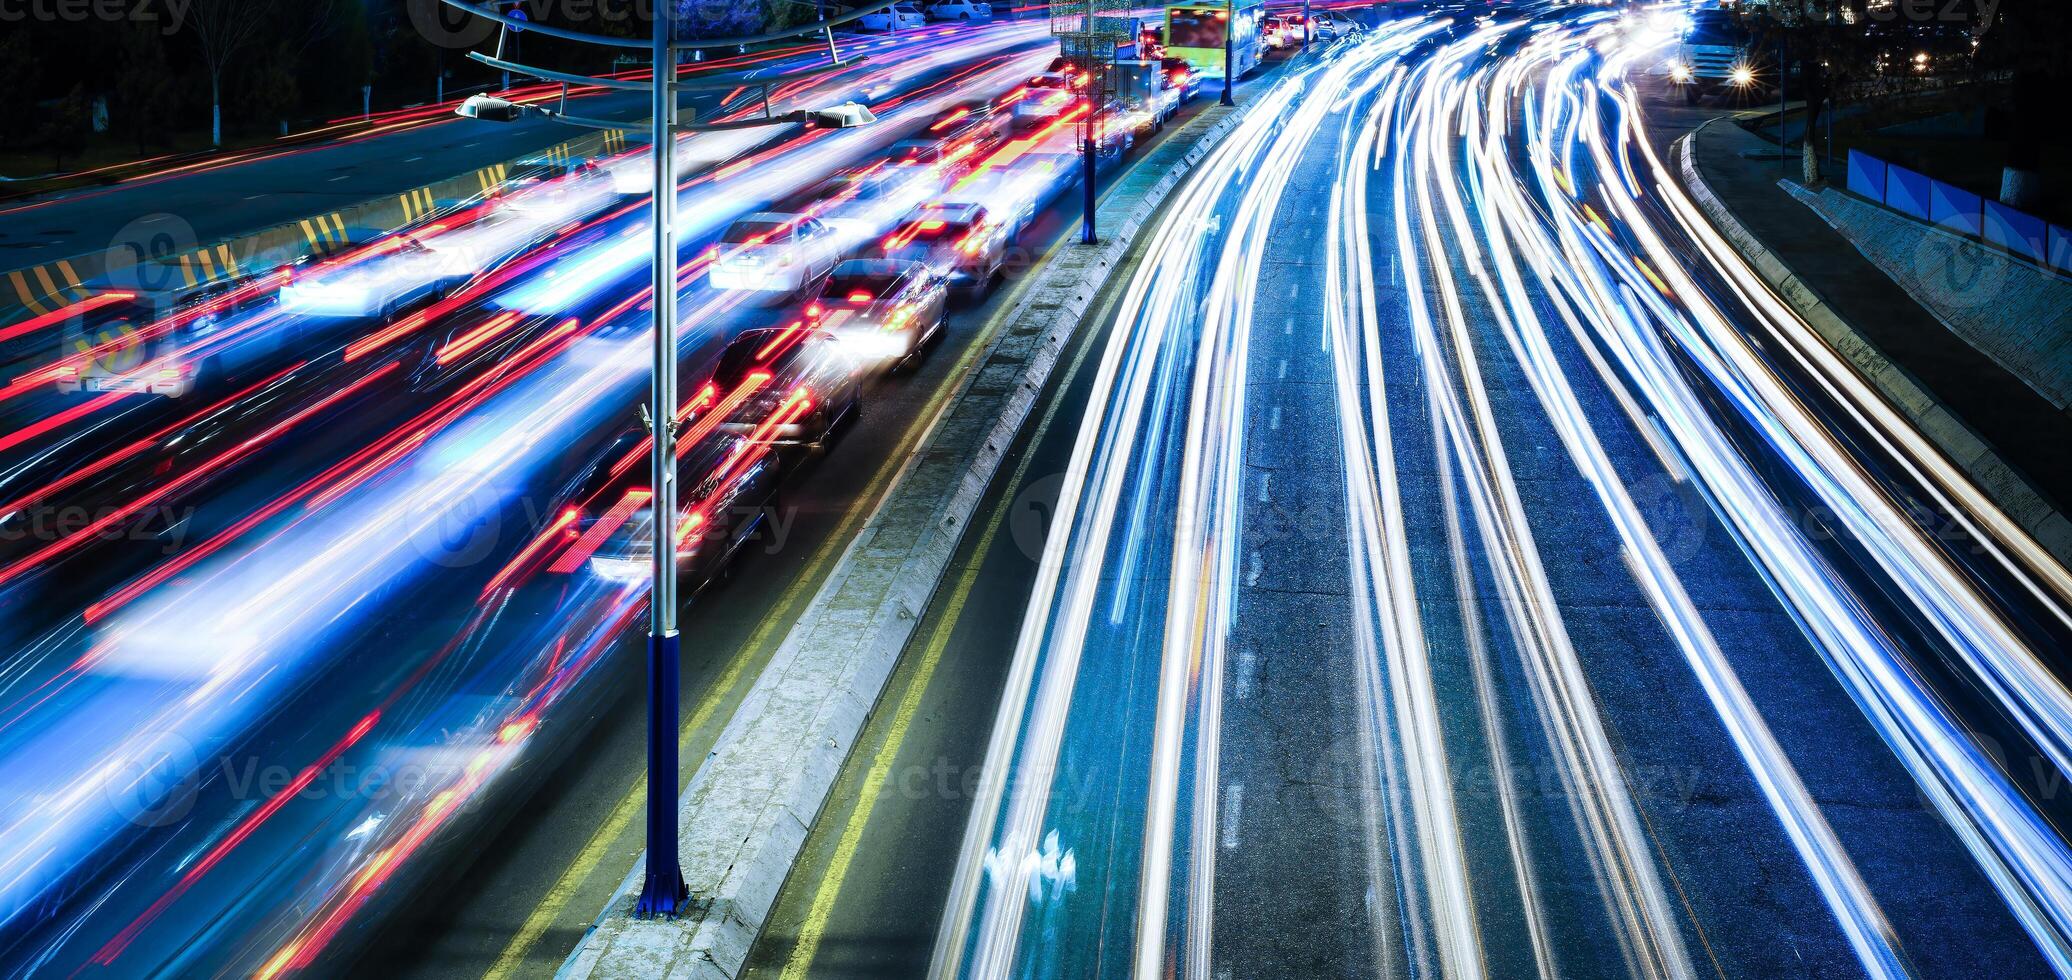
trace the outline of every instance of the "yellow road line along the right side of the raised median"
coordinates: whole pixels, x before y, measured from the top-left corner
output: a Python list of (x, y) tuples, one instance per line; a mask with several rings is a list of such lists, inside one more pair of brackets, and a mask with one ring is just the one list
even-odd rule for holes
[[(1111, 290), (1109, 298), (1102, 300), (1100, 311), (1084, 323), (1106, 323), (1115, 313), (1115, 300), (1123, 290)], [(949, 646), (949, 636), (957, 630), (957, 619), (963, 617), (963, 603), (972, 597), (972, 586), (978, 582), (978, 572), (986, 564), (986, 553), (992, 551), (992, 539), (1001, 532), (1001, 522), (1007, 520), (1007, 508), (1013, 506), (1015, 495), (1021, 493), (1021, 481), (1028, 477), (1030, 464), (1036, 462), (1036, 448), (1042, 445), (1044, 435), (1051, 431), (1051, 423), (1057, 419), (1059, 406), (1065, 404), (1065, 390), (1071, 379), (1080, 373), (1086, 356), (1094, 350), (1092, 342), (1080, 344), (1080, 350), (1071, 358), (1071, 367), (1065, 369), (1063, 381), (1051, 396), (1051, 404), (1044, 408), (1042, 419), (1036, 423), (1036, 431), (1030, 433), (1028, 448), (1021, 452), (1021, 460), (1015, 462), (1013, 477), (1001, 487), (1001, 499), (992, 506), (992, 514), (986, 518), (986, 530), (978, 537), (978, 547), (972, 551), (970, 561), (966, 561), (963, 572), (957, 576), (957, 588), (949, 597), (949, 605), (943, 607), (943, 617), (937, 619), (934, 632), (928, 636), (928, 646), (922, 651), (920, 665), (914, 669), (914, 680), (908, 684), (905, 694), (899, 698), (899, 709), (893, 713), (891, 729), (885, 736), (885, 744), (870, 758), (870, 773), (864, 775), (864, 785), (860, 787), (860, 798), (856, 810), (850, 812), (850, 823), (841, 829), (841, 841), (835, 843), (835, 856), (827, 864), (827, 874), (821, 876), (821, 887), (812, 895), (812, 907), (806, 912), (806, 922), (798, 930), (798, 943), (792, 945), (792, 957), (785, 961), (781, 980), (804, 980), (806, 972), (812, 968), (814, 955), (821, 951), (821, 941), (827, 936), (827, 920), (835, 912), (835, 899), (841, 893), (841, 883), (850, 876), (850, 864), (856, 862), (856, 847), (862, 843), (864, 827), (870, 823), (870, 812), (879, 804), (879, 794), (885, 787), (887, 777), (891, 777), (893, 758), (899, 754), (899, 746), (905, 742), (908, 725), (912, 725), (914, 715), (920, 711), (920, 698), (928, 690), (928, 682), (934, 678), (937, 665), (943, 661), (943, 651)]]

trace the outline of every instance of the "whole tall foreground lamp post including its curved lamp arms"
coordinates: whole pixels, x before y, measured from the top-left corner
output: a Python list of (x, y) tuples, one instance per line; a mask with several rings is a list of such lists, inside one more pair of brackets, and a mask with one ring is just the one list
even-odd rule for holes
[[(524, 23), (524, 17), (503, 15), (495, 8), (477, 6), (472, 0), (441, 0), (448, 6), (466, 10), (477, 17), (497, 21), (508, 31), (535, 29), (553, 37), (580, 41), (580, 44), (601, 44), (617, 48), (640, 48), (646, 41), (622, 39), (622, 37), (601, 37), (586, 35), (580, 31), (568, 31), (547, 25)], [(675, 808), (678, 808), (678, 781), (680, 781), (680, 760), (678, 760), (678, 723), (682, 719), (682, 642), (678, 636), (675, 605), (678, 605), (678, 576), (675, 576), (675, 526), (678, 526), (678, 485), (675, 485), (675, 371), (678, 371), (678, 323), (675, 323), (675, 135), (678, 133), (704, 133), (704, 131), (731, 131), (750, 126), (777, 126), (777, 124), (806, 124), (823, 128), (854, 128), (868, 126), (876, 122), (868, 108), (860, 104), (841, 104), (821, 110), (796, 110), (773, 114), (769, 110), (769, 89), (771, 85), (781, 85), (789, 81), (804, 81), (816, 75), (841, 70), (854, 66), (862, 58), (850, 58), (843, 62), (835, 52), (835, 27), (856, 21), (874, 10), (891, 6), (895, 0), (866, 2), (850, 8), (833, 19), (821, 19), (810, 25), (789, 27), (756, 37), (723, 37), (707, 41), (678, 41), (673, 29), (673, 4), (655, 4), (655, 37), (653, 37), (653, 64), (655, 79), (651, 83), (624, 81), (624, 79), (591, 79), (580, 75), (557, 73), (549, 68), (535, 68), (526, 64), (516, 64), (503, 60), (503, 37), (497, 39), (497, 56), (489, 58), (479, 52), (468, 52), (468, 58), (483, 62), (491, 68), (503, 73), (520, 73), (543, 81), (559, 81), (564, 85), (564, 108), (566, 108), (566, 85), (597, 85), (605, 89), (636, 91), (644, 89), (653, 95), (653, 170), (655, 170), (655, 193), (653, 193), (653, 238), (655, 238), (655, 261), (653, 261), (653, 309), (655, 309), (655, 365), (653, 381), (649, 387), (649, 427), (653, 431), (653, 456), (651, 456), (651, 485), (653, 497), (649, 497), (649, 510), (653, 512), (655, 545), (653, 545), (653, 586), (649, 590), (649, 644), (646, 644), (646, 682), (649, 682), (649, 779), (646, 779), (646, 876), (640, 885), (640, 899), (634, 905), (634, 914), (642, 918), (651, 916), (675, 916), (684, 910), (690, 899), (690, 889), (684, 885), (684, 870), (678, 858), (678, 835), (675, 835)], [(779, 37), (794, 37), (804, 33), (823, 33), (827, 37), (831, 64), (825, 70), (802, 70), (771, 75), (765, 79), (727, 79), (727, 81), (702, 81), (702, 83), (680, 83), (675, 81), (678, 70), (678, 48), (690, 48), (702, 52), (704, 48), (723, 46), (746, 46), (760, 44)], [(738, 85), (762, 87), (762, 116), (733, 122), (711, 122), (711, 124), (678, 124), (675, 97), (682, 91), (723, 91)], [(472, 95), (460, 108), (454, 110), (466, 118), (481, 118), (493, 122), (512, 122), (526, 114), (547, 116), (555, 122), (566, 122), (574, 126), (588, 128), (617, 128), (617, 122), (595, 120), (582, 116), (570, 116), (568, 112), (549, 110), (543, 106), (514, 104), (510, 99), (491, 95)]]

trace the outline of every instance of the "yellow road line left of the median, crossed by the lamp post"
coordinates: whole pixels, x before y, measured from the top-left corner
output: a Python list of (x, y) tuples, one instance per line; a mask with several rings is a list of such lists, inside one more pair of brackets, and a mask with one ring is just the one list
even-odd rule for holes
[[(1065, 247), (1067, 240), (1069, 236), (1053, 244), (1051, 251), (1044, 253), (1042, 261), (1048, 263), (1057, 255), (1057, 251)], [(1015, 305), (1021, 300), (1021, 294), (1028, 292), (1028, 286), (1034, 280), (1036, 280), (1034, 276), (1021, 280), (1019, 284), (1015, 284), (1013, 294), (1001, 300), (999, 311), (986, 319), (986, 325), (980, 327), (980, 336), (970, 344), (970, 348), (966, 348), (963, 356), (957, 358), (957, 367), (949, 373), (943, 387), (928, 400), (928, 404), (914, 419), (914, 423), (908, 425), (908, 431), (899, 437), (895, 452), (891, 452), (879, 466), (879, 472), (872, 474), (864, 491), (864, 501), (870, 501), (870, 506), (850, 508), (850, 514), (841, 520), (841, 524), (837, 524), (835, 532), (829, 535), (827, 541), (821, 543), (821, 549), (812, 555), (812, 559), (806, 561), (806, 572), (800, 574), (796, 580), (792, 580), (792, 586), (785, 588), (783, 597), (777, 599), (777, 609), (792, 609), (800, 601), (806, 586), (821, 580), (823, 566), (835, 555), (837, 547), (847, 547), (847, 541), (856, 537), (858, 524), (864, 520), (866, 514), (876, 510), (879, 497), (885, 495), (893, 474), (899, 472), (899, 460), (912, 452), (914, 448), (912, 443), (920, 439), (920, 433), (934, 419), (943, 400), (949, 398), (949, 394), (959, 387), (959, 381), (966, 377), (978, 354), (990, 346), (990, 340), (995, 334), (999, 334), (1001, 323), (1007, 319), (1007, 313), (1015, 309)], [(746, 644), (742, 644), (742, 653), (733, 657), (733, 663), (727, 665), (727, 671), (721, 675), (721, 680), (698, 702), (698, 709), (692, 713), (690, 723), (684, 725), (678, 738), (680, 746), (688, 746), (690, 736), (700, 727), (704, 727), (713, 711), (719, 709), (719, 700), (727, 694), (727, 690), (733, 688), (733, 684), (740, 682), (740, 675), (744, 669), (748, 669), (748, 663), (756, 659), (752, 657), (752, 653), (760, 651), (771, 640), (771, 634), (777, 630), (777, 626), (789, 619), (794, 617), (769, 615), (762, 619), (760, 626), (756, 626), (756, 632), (750, 634)], [(632, 787), (626, 789), (626, 796), (620, 798), (617, 806), (611, 808), (611, 814), (605, 816), (605, 823), (597, 829), (595, 835), (591, 835), (588, 843), (582, 845), (582, 849), (576, 854), (576, 860), (570, 862), (570, 866), (562, 872), (562, 876), (553, 883), (553, 887), (547, 889), (547, 895), (533, 910), (533, 914), (526, 916), (524, 924), (518, 926), (518, 932), (512, 934), (512, 941), (503, 947), (503, 953), (497, 955), (497, 961), (489, 968), (487, 974), (483, 974), (483, 980), (506, 980), (518, 970), (526, 953), (533, 951), (533, 945), (539, 943), (539, 936), (547, 932), (547, 926), (551, 926), (553, 920), (562, 918), (562, 912), (568, 907), (568, 901), (574, 899), (576, 895), (576, 887), (591, 876), (591, 872), (597, 868), (597, 862), (603, 860), (605, 849), (611, 845), (611, 841), (615, 841), (622, 833), (626, 833), (628, 825), (632, 825), (634, 814), (642, 810), (640, 804), (644, 802), (644, 796), (646, 796), (646, 777), (642, 775), (640, 779), (634, 781)]]

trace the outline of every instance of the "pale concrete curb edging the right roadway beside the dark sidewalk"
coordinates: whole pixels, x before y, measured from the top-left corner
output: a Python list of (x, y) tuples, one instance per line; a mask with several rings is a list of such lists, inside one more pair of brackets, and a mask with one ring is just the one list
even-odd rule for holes
[(1935, 448), (1966, 477), (1977, 483), (1999, 510), (2043, 545), (2060, 564), (2072, 566), (2072, 520), (2057, 512), (2028, 481), (2008, 466), (2006, 460), (1956, 412), (1950, 412), (1915, 379), (1904, 367), (1894, 365), (1886, 354), (1865, 340), (1811, 284), (1798, 278), (1776, 253), (1769, 251), (1738, 218), (1720, 201), (1711, 184), (1697, 170), (1697, 137), (1707, 128), (1728, 122), (1720, 116), (1682, 137), (1678, 168), (1691, 199), (1718, 228), (1720, 236), (1763, 278), (1765, 284), (1792, 311), (1813, 327), (1821, 340), (1846, 361), (1857, 375), (1871, 383), (1877, 394), (1904, 414)]

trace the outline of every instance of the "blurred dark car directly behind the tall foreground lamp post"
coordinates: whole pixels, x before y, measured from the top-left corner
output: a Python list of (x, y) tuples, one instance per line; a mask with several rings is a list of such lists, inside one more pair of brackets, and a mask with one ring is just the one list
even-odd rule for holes
[[(696, 416), (690, 416), (696, 423)], [(686, 595), (721, 582), (775, 512), (781, 460), (742, 435), (707, 435), (678, 454), (678, 576)], [(570, 545), (557, 572), (588, 566), (638, 582), (655, 559), (653, 470), (644, 429), (622, 433), (578, 481), (557, 518)]]

